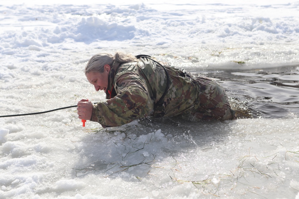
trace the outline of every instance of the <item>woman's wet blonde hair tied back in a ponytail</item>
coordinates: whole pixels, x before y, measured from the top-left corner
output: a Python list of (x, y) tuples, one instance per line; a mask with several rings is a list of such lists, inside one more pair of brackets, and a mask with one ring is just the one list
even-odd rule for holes
[(104, 66), (108, 64), (110, 67), (116, 62), (127, 63), (138, 61), (136, 57), (131, 54), (116, 52), (114, 55), (110, 53), (99, 53), (93, 55), (85, 66), (85, 75), (89, 72), (104, 72)]

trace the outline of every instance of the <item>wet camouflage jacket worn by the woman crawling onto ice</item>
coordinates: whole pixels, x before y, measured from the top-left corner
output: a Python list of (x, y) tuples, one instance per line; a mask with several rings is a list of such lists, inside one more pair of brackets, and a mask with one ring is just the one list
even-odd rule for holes
[(176, 116), (194, 112), (199, 106), (199, 89), (190, 75), (166, 67), (170, 85), (161, 106), (156, 106), (167, 87), (164, 69), (148, 58), (115, 63), (109, 72), (105, 102), (94, 105), (91, 121), (103, 127), (121, 126), (144, 117)]

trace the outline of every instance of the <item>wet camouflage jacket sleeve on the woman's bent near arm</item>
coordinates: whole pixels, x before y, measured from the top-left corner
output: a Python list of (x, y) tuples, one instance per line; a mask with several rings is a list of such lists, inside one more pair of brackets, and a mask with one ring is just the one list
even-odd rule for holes
[(153, 109), (145, 79), (136, 73), (136, 63), (124, 64), (114, 78), (114, 98), (94, 106), (91, 121), (103, 126), (121, 126), (135, 119), (147, 117)]

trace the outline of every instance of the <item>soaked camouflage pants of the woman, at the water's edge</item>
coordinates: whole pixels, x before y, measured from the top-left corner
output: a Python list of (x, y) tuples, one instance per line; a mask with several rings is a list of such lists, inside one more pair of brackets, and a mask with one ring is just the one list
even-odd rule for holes
[(199, 85), (199, 107), (194, 116), (201, 120), (216, 119), (220, 121), (235, 119), (235, 111), (231, 109), (223, 87), (203, 75), (192, 75)]

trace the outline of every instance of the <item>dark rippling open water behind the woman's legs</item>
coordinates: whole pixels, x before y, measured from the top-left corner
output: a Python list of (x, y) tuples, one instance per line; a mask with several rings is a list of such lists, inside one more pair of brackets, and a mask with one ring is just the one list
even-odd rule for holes
[(220, 72), (206, 70), (205, 75), (219, 80), (238, 118), (299, 116), (299, 66)]

